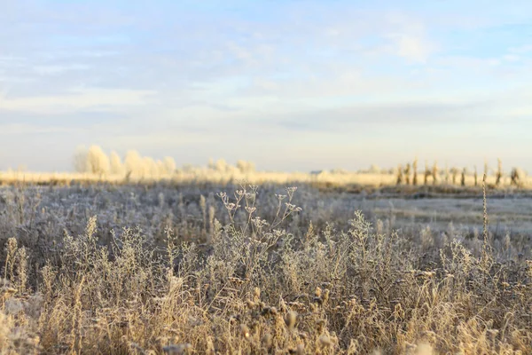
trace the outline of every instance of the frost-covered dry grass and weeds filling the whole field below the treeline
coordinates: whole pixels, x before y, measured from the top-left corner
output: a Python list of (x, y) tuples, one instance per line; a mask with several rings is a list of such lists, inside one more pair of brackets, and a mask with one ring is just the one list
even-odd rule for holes
[(527, 193), (314, 186), (0, 187), (0, 353), (531, 353)]

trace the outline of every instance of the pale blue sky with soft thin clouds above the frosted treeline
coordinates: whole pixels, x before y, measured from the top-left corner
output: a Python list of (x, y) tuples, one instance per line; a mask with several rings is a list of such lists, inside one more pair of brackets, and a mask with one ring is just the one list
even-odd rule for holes
[(532, 2), (0, 0), (0, 169), (532, 172)]

